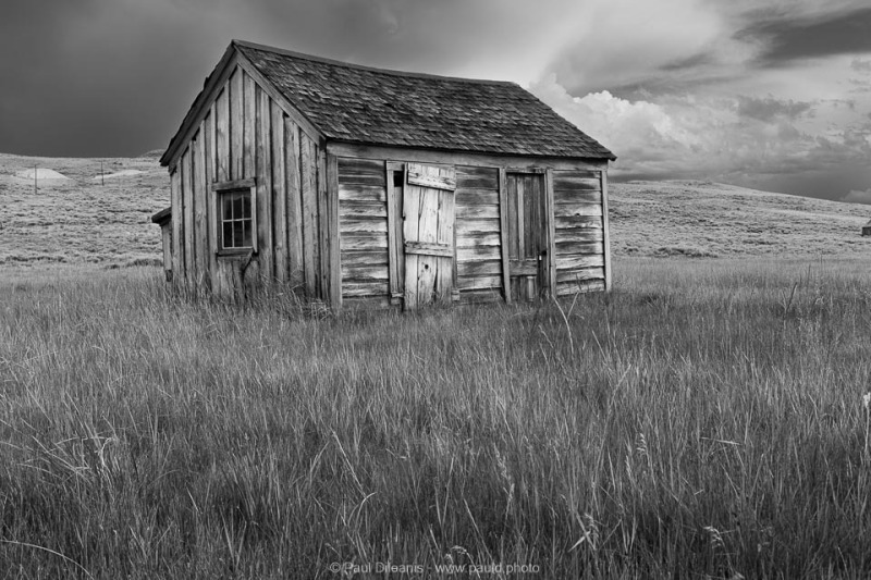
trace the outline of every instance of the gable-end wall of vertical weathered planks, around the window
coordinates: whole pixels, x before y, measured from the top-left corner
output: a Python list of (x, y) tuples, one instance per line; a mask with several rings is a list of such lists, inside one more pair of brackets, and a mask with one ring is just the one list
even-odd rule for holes
[[(171, 166), (175, 280), (229, 297), (274, 282), (328, 298), (326, 151), (247, 70), (213, 90)], [(254, 178), (258, 251), (220, 256), (213, 184)]]

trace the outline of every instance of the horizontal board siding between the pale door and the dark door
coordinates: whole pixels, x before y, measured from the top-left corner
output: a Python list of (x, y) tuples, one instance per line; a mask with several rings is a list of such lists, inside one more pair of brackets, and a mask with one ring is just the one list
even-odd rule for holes
[(499, 170), (456, 168), (456, 275), (461, 303), (502, 299)]

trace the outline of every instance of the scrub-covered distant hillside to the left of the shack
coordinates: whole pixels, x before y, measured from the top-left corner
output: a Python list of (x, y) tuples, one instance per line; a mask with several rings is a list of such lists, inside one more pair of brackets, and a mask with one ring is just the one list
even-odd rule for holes
[(0, 155), (0, 266), (158, 263), (167, 170), (150, 152), (106, 158), (101, 178), (100, 161)]

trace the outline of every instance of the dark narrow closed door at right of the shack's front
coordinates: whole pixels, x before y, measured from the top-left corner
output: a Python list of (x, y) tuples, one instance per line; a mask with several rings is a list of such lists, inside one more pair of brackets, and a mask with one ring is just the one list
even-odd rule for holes
[(513, 300), (535, 300), (548, 292), (548, 213), (544, 174), (508, 173), (508, 272)]

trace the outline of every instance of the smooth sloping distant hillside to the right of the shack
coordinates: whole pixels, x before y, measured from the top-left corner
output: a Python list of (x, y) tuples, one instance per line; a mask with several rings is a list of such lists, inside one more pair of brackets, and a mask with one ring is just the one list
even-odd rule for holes
[(871, 257), (871, 207), (698, 181), (609, 186), (615, 256)]

